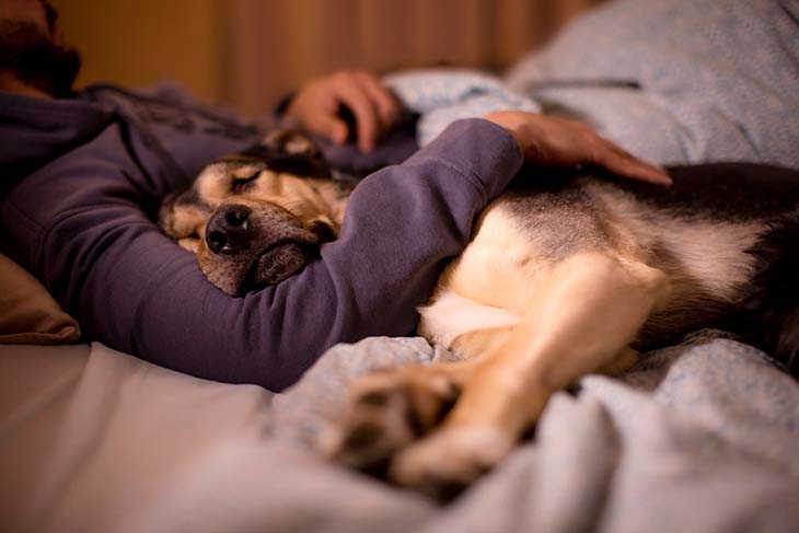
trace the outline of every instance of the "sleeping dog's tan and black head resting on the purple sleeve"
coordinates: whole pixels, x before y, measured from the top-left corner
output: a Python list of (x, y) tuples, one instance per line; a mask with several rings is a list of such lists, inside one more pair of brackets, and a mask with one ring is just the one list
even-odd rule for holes
[(207, 165), (161, 206), (159, 224), (228, 294), (276, 285), (338, 236), (350, 186), (306, 137), (278, 130)]

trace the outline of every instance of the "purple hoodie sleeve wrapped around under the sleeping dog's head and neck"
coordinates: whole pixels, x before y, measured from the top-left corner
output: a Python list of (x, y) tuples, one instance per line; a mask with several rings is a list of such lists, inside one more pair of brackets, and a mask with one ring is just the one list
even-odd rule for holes
[(49, 231), (27, 247), (34, 271), (91, 337), (196, 376), (278, 391), (336, 343), (413, 333), (416, 305), (521, 164), (505, 129), (458, 121), (359, 184), (320, 259), (243, 298), (212, 287), (194, 255), (161, 234), (113, 161), (25, 184), (28, 197), (37, 183), (62, 195), (60, 211), (45, 217)]

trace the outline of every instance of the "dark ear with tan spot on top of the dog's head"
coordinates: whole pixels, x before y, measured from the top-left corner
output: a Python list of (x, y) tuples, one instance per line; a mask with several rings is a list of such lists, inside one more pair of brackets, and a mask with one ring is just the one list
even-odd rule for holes
[(332, 174), (316, 143), (292, 129), (274, 129), (242, 154), (264, 161), (267, 167), (276, 172), (305, 177), (331, 177)]

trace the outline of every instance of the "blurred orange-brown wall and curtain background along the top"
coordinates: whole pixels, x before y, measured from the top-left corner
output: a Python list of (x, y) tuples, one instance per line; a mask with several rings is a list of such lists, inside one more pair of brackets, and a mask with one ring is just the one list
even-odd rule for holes
[(254, 115), (343, 67), (502, 69), (599, 0), (51, 0), (79, 85), (176, 80)]

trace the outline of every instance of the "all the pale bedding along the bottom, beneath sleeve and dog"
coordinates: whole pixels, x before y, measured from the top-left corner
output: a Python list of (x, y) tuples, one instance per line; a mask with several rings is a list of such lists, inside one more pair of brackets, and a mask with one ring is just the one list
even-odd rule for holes
[(308, 452), (350, 376), (447, 357), (340, 345), (275, 396), (99, 344), (0, 346), (0, 530), (797, 530), (799, 386), (710, 334), (557, 393), (534, 439), (447, 506)]

